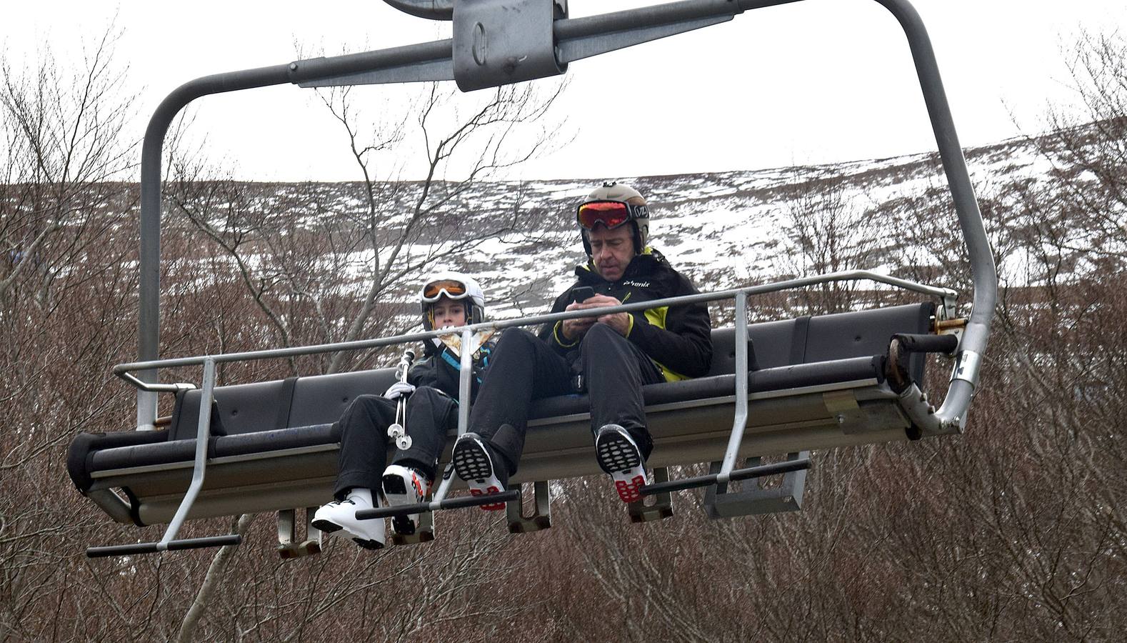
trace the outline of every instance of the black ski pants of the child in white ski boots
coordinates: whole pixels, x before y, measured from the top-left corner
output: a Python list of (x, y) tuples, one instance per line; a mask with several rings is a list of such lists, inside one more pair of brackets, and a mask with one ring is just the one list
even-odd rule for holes
[[(360, 395), (337, 421), (340, 425), (340, 460), (334, 495), (339, 500), (354, 487), (382, 488), (388, 464), (388, 426), (396, 422), (396, 400)], [(423, 386), (407, 398), (407, 434), (411, 447), (392, 448), (391, 464), (412, 467), (434, 479), (446, 431), (458, 426), (458, 403), (436, 388)]]

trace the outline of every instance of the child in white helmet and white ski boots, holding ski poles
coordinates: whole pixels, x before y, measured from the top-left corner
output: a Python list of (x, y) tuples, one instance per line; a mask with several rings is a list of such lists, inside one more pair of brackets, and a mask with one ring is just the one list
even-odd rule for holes
[[(419, 302), (426, 331), (485, 319), (485, 292), (477, 281), (461, 273), (433, 275), (424, 283)], [(348, 405), (339, 420), (340, 464), (335, 500), (317, 510), (313, 527), (352, 538), (361, 547), (379, 549), (384, 544), (383, 520), (357, 520), (356, 512), (423, 502), (434, 482), (446, 432), (458, 426), (461, 351), (473, 351), (471, 394), (477, 393), (489, 364), (492, 337), (479, 334), (474, 342), (478, 345), (462, 346), (456, 333), (427, 340), (425, 358), (415, 362), (406, 381), (394, 382), (382, 396), (360, 395)], [(405, 432), (391, 465), (384, 468), (388, 428), (400, 421)], [(418, 514), (411, 514), (394, 518), (392, 525), (397, 532), (409, 535), (415, 532), (417, 521)]]

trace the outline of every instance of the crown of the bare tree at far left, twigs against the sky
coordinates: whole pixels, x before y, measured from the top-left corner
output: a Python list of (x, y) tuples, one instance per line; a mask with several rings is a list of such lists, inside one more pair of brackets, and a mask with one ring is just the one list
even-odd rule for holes
[(135, 143), (123, 135), (133, 113), (125, 68), (113, 60), (113, 27), (61, 68), (50, 49), (35, 67), (0, 59), (0, 298), (21, 282), (50, 302), (59, 273), (81, 261), (105, 224), (99, 215), (119, 193)]

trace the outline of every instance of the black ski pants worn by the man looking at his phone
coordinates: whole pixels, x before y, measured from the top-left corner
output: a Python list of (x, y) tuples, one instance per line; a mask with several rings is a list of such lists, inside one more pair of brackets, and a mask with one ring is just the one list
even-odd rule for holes
[[(592, 433), (604, 424), (619, 424), (648, 458), (654, 442), (646, 429), (641, 387), (665, 381), (660, 369), (606, 324), (587, 331), (579, 360), (591, 399)], [(506, 331), (470, 411), (469, 430), (486, 438), (505, 457), (509, 474), (516, 473), (532, 400), (569, 393), (574, 393), (571, 368), (565, 358), (527, 331)]]

